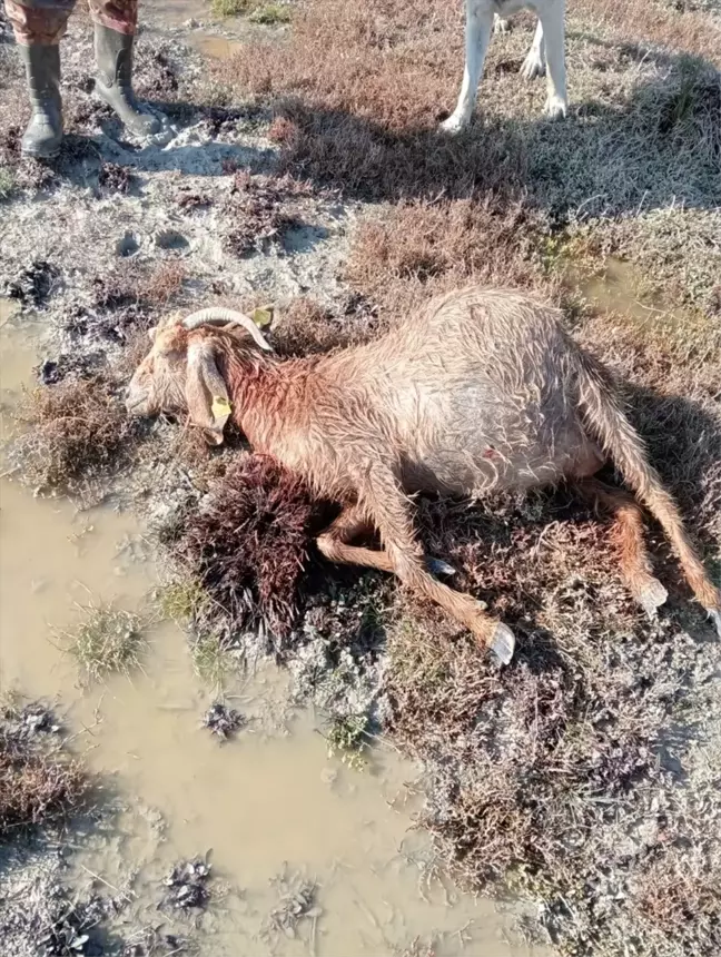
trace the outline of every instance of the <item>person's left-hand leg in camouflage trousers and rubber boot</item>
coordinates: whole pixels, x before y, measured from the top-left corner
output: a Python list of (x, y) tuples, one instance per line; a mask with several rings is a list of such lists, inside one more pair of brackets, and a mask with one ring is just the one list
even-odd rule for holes
[(62, 141), (60, 48), (75, 0), (6, 0), (26, 68), (32, 117), (22, 137), (24, 156), (52, 159)]

